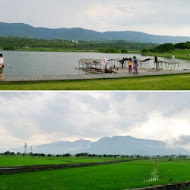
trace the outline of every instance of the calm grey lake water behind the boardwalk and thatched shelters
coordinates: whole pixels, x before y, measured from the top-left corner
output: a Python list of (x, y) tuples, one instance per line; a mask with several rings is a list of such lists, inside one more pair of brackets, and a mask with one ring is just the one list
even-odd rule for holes
[[(7, 67), (5, 76), (44, 76), (44, 75), (78, 75), (76, 70), (78, 61), (82, 58), (94, 59), (122, 59), (123, 57), (136, 56), (143, 60), (148, 57), (137, 54), (104, 54), (104, 53), (68, 53), (68, 52), (18, 52), (1, 51)], [(150, 57), (150, 56), (149, 56)], [(190, 61), (180, 62), (180, 70), (190, 69)], [(153, 62), (152, 62), (153, 65)]]

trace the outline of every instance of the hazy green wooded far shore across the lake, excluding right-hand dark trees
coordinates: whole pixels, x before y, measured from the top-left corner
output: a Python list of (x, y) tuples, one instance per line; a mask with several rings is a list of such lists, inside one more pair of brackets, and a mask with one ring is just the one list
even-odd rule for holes
[(142, 49), (151, 49), (156, 46), (157, 44), (152, 43), (146, 44), (126, 41), (96, 42), (0, 37), (0, 49), (10, 51), (139, 53)]

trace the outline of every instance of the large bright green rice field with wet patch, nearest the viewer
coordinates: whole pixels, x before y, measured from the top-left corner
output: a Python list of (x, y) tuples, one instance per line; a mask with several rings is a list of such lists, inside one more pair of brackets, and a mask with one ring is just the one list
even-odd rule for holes
[(133, 161), (0, 176), (0, 190), (121, 190), (190, 180), (190, 161)]

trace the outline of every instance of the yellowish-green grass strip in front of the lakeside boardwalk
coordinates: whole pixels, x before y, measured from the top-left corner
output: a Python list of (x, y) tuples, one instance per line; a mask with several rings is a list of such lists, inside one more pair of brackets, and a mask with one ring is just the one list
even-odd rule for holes
[(190, 90), (190, 74), (39, 83), (0, 83), (0, 90)]

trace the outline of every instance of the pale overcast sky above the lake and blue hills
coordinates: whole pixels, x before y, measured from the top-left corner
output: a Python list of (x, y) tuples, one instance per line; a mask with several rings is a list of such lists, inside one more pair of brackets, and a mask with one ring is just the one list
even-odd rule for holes
[(189, 0), (0, 0), (0, 22), (190, 36)]

